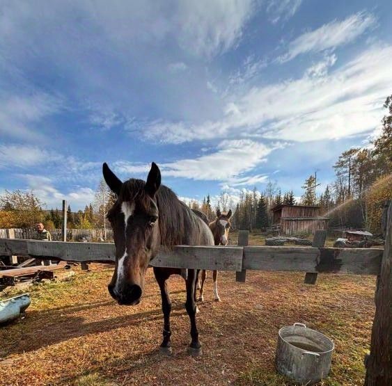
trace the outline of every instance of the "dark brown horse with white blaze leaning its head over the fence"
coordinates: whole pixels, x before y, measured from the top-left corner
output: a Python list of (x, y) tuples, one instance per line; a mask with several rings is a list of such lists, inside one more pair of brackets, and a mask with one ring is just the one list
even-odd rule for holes
[[(117, 195), (107, 214), (116, 244), (116, 268), (108, 285), (109, 293), (120, 305), (136, 305), (141, 300), (148, 264), (157, 255), (159, 246), (213, 246), (214, 239), (205, 222), (178, 200), (173, 191), (161, 186), (161, 173), (155, 163), (152, 163), (147, 182), (141, 179), (121, 182), (107, 163), (103, 164), (103, 175), (111, 191)], [(166, 280), (175, 273), (180, 274), (180, 269), (154, 268), (164, 312), (161, 344), (164, 353), (171, 353), (171, 300)], [(195, 316), (197, 276), (196, 270), (188, 270), (185, 307), (191, 321), (188, 348), (191, 355), (201, 354)]]

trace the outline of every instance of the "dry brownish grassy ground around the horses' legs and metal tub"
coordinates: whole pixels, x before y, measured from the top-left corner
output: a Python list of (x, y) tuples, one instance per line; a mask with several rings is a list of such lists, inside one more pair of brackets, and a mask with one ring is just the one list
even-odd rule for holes
[(321, 385), (361, 385), (363, 355), (375, 312), (375, 278), (303, 273), (219, 273), (221, 303), (211, 274), (198, 328), (203, 356), (189, 357), (185, 285), (169, 280), (173, 355), (159, 354), (159, 289), (148, 271), (142, 302), (119, 306), (107, 291), (112, 268), (91, 264), (64, 280), (10, 288), (0, 298), (31, 293), (24, 319), (0, 328), (0, 385), (290, 385), (274, 370), (279, 328), (306, 323), (336, 344), (329, 378)]

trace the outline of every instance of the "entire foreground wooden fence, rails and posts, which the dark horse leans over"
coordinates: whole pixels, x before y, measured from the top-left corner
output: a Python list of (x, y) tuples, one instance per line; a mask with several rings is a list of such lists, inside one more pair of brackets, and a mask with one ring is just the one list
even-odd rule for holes
[[(317, 273), (377, 275), (376, 313), (366, 386), (392, 385), (392, 202), (384, 211), (385, 248), (324, 248), (326, 232), (315, 234), (312, 247), (247, 246), (249, 233), (239, 232), (239, 246), (176, 246), (162, 248), (151, 266), (236, 271), (245, 281), (246, 270), (304, 271), (315, 282)], [(247, 236), (246, 236), (247, 235)], [(317, 248), (318, 247), (318, 248)], [(74, 262), (114, 262), (111, 243), (71, 243), (0, 239), (0, 255)], [(309, 279), (309, 278), (308, 278)]]

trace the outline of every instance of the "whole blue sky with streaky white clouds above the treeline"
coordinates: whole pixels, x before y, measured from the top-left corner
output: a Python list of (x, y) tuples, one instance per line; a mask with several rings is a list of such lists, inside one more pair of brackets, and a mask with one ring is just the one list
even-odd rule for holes
[[(93, 200), (102, 162), (182, 198), (301, 195), (392, 93), (391, 1), (0, 0), (0, 193)], [(321, 189), (320, 188), (320, 193)]]

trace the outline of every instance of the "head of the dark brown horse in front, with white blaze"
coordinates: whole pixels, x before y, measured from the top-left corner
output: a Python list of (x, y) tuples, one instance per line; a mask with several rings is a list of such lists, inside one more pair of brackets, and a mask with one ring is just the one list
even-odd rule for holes
[(107, 218), (116, 245), (116, 268), (108, 285), (109, 293), (121, 305), (136, 305), (144, 288), (148, 263), (160, 243), (159, 211), (155, 194), (161, 184), (161, 173), (152, 163), (147, 182), (130, 179), (121, 182), (103, 164), (103, 175), (117, 200)]

